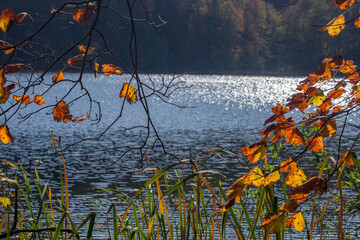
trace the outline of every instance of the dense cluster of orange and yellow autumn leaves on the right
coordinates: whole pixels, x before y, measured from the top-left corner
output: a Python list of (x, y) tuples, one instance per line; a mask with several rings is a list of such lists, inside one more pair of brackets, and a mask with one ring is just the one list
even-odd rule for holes
[[(335, 0), (333, 4), (341, 10), (346, 10), (354, 5), (354, 1)], [(338, 35), (347, 24), (344, 14), (335, 17), (319, 31), (328, 31), (330, 36)], [(359, 21), (358, 17), (355, 18), (356, 27), (359, 27)], [(341, 141), (344, 132), (342, 130), (339, 133), (338, 124), (342, 123), (344, 117), (356, 112), (359, 106), (360, 77), (355, 63), (344, 59), (341, 55), (325, 58), (314, 73), (298, 83), (297, 92), (287, 99), (285, 105), (277, 104), (272, 108), (273, 115), (265, 120), (266, 127), (259, 132), (261, 140), (242, 148), (241, 153), (250, 166), (254, 163), (258, 166), (251, 167), (248, 173), (229, 187), (227, 202), (222, 204), (219, 210), (225, 212), (234, 206), (251, 187), (264, 189), (266, 198), (272, 205), (274, 202), (271, 194), (277, 189), (276, 186), (280, 185), (286, 193), (286, 198), (282, 203), (276, 202), (275, 204), (279, 204), (277, 207), (264, 211), (261, 224), (264, 233), (279, 233), (284, 227), (294, 228), (298, 232), (303, 231), (308, 214), (302, 213), (302, 204), (306, 201), (313, 201), (315, 204), (317, 195), (327, 193), (328, 182), (335, 172), (337, 172), (337, 182), (340, 184), (344, 170), (348, 166), (359, 164), (355, 152), (350, 147), (338, 153), (337, 160), (333, 161), (335, 164), (333, 170), (327, 176), (322, 176), (324, 166), (331, 158), (326, 157), (326, 142), (335, 137)], [(343, 124), (341, 129), (344, 127)], [(287, 148), (295, 147), (301, 153), (285, 160), (278, 158), (278, 162), (276, 160), (269, 162), (271, 159), (271, 155), (268, 156), (269, 147), (279, 145), (286, 145)], [(322, 158), (323, 163), (318, 176), (307, 177), (301, 169), (302, 158), (306, 152)], [(259, 163), (262, 170), (259, 168)], [(342, 187), (340, 185), (337, 187), (340, 190), (340, 198), (343, 198)], [(316, 223), (321, 220), (326, 208), (327, 206), (318, 216)], [(307, 220), (311, 223), (309, 225), (311, 236), (315, 227), (314, 213), (312, 214), (312, 222)], [(341, 216), (342, 214), (343, 212)], [(341, 225), (342, 223), (339, 223), (339, 226)], [(338, 236), (340, 238), (341, 230), (338, 231)]]

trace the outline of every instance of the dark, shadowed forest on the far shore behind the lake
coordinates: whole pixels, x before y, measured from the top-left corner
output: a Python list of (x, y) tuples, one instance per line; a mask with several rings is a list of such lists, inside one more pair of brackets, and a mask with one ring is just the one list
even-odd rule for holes
[[(114, 12), (126, 12), (121, 2), (110, 6)], [(61, 4), (38, 0), (34, 6), (31, 0), (12, 0), (3, 1), (2, 7), (28, 12), (35, 23), (24, 23), (23, 29), (30, 34)], [(143, 4), (147, 14), (135, 10), (142, 72), (291, 75), (312, 72), (321, 59), (339, 53), (360, 60), (360, 33), (354, 26), (336, 37), (318, 32), (340, 11), (328, 0), (144, 0)], [(107, 37), (117, 39), (111, 47), (123, 53), (126, 63), (129, 26), (107, 24), (112, 14), (109, 11), (109, 19), (101, 19), (102, 27), (114, 29)], [(61, 52), (82, 31), (81, 25), (69, 29), (67, 24), (56, 21), (33, 40)], [(16, 42), (24, 31), (18, 28), (6, 40)]]

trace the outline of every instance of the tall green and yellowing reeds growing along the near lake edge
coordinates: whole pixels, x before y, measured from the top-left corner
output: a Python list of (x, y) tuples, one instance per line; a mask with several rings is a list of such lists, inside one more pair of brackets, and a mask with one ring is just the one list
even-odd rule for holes
[[(73, 219), (69, 212), (68, 177), (66, 163), (59, 145), (60, 193), (54, 195), (50, 179), (42, 181), (37, 170), (33, 174), (21, 165), (2, 160), (17, 171), (10, 176), (5, 171), (2, 177), (0, 199), (0, 238), (6, 239), (96, 239), (100, 234), (108, 239), (287, 239), (292, 232), (282, 227), (277, 234), (268, 234), (261, 228), (267, 213), (279, 212), (278, 195), (273, 186), (260, 187), (245, 192), (245, 196), (226, 212), (219, 206), (226, 202), (225, 187), (230, 185), (227, 178), (215, 171), (208, 170), (204, 164), (193, 159), (176, 162), (164, 169), (148, 168), (149, 180), (133, 194), (121, 189), (102, 188), (114, 194), (108, 207), (107, 222), (96, 221), (91, 213), (82, 221)], [(205, 152), (213, 154), (217, 152)], [(355, 158), (360, 174), (360, 163)], [(322, 164), (322, 175), (326, 161)], [(189, 166), (191, 171), (189, 172)], [(187, 171), (185, 169), (187, 168)], [(186, 173), (185, 173), (186, 172)], [(341, 176), (346, 169), (339, 169), (336, 183), (340, 190), (338, 207), (338, 236), (341, 236), (344, 218), (344, 201)], [(353, 175), (349, 172), (349, 177)], [(352, 179), (356, 183), (356, 179)], [(283, 189), (286, 198), (286, 189)], [(248, 195), (246, 197), (246, 195)], [(280, 194), (281, 195), (281, 194)], [(9, 201), (7, 201), (8, 199)], [(325, 211), (331, 197), (316, 211), (317, 198), (313, 198), (303, 239), (315, 239), (315, 227), (320, 226), (321, 234), (330, 232), (323, 229)], [(77, 203), (77, 204), (81, 204)], [(101, 231), (100, 233), (98, 233)], [(271, 238), (274, 236), (275, 238)], [(323, 236), (323, 235), (322, 235)], [(325, 236), (325, 234), (324, 234)], [(330, 237), (331, 239), (331, 237)]]

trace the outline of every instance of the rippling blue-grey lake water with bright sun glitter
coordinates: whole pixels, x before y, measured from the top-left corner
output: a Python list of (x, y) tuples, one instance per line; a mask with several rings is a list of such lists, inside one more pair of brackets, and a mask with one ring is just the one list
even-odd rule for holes
[[(73, 77), (75, 75), (65, 74), (65, 78)], [(155, 85), (159, 85), (163, 79), (166, 82), (172, 78), (169, 75), (141, 77), (147, 84), (154, 82)], [(277, 103), (284, 104), (302, 79), (181, 76), (177, 79), (181, 81), (178, 86), (186, 88), (175, 91), (167, 100), (185, 108), (164, 104), (159, 98), (153, 97), (148, 100), (150, 114), (166, 150), (180, 159), (211, 149), (226, 149), (240, 155), (243, 146), (260, 139), (258, 131), (263, 129), (264, 121), (272, 115), (271, 107)], [(44, 181), (54, 175), (51, 183), (56, 184), (62, 163), (61, 158), (55, 154), (50, 129), (53, 129), (55, 136), (62, 136), (64, 148), (76, 142), (77, 136), (98, 136), (119, 114), (122, 99), (118, 96), (123, 82), (123, 78), (118, 76), (95, 78), (92, 74), (86, 75), (85, 87), (92, 93), (93, 99), (101, 102), (102, 121), (96, 125), (89, 120), (82, 123), (57, 123), (51, 114), (46, 114), (48, 110), (41, 111), (24, 122), (11, 119), (8, 126), (15, 142), (7, 146), (0, 145), (1, 158), (14, 163), (20, 162), (30, 172), (36, 167)], [(54, 94), (61, 96), (69, 87), (68, 83), (59, 83), (54, 92), (44, 95), (47, 104), (54, 104)], [(41, 94), (43, 90), (39, 89), (36, 93)], [(79, 91), (75, 91), (67, 99), (75, 97)], [(84, 100), (70, 106), (71, 114), (80, 116), (88, 112), (87, 103)], [(39, 107), (31, 104), (24, 112), (36, 109)], [(99, 190), (99, 187), (113, 188), (117, 185), (120, 190), (129, 193), (144, 183), (144, 174), (137, 172), (141, 170), (138, 168), (139, 153), (132, 152), (120, 158), (129, 146), (140, 146), (144, 136), (144, 133), (140, 136), (136, 129), (125, 132), (124, 127), (137, 126), (145, 121), (144, 117), (139, 103), (126, 103), (123, 117), (99, 141), (86, 141), (65, 151), (73, 212), (82, 216), (91, 211), (106, 212), (107, 208), (95, 204), (109, 202), (108, 194)], [(164, 155), (159, 147), (156, 151), (148, 151), (147, 156), (150, 167), (165, 167), (177, 161), (171, 155)], [(208, 159), (207, 166), (234, 180), (243, 173), (244, 168), (237, 158), (224, 157)], [(43, 163), (40, 164), (37, 160)], [(77, 205), (78, 202), (82, 203), (81, 206)]]

